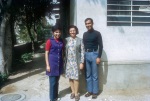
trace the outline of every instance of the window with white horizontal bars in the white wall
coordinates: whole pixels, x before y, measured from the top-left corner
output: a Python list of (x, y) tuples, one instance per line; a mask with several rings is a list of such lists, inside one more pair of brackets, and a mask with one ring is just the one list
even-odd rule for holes
[(107, 0), (107, 26), (150, 26), (150, 0)]

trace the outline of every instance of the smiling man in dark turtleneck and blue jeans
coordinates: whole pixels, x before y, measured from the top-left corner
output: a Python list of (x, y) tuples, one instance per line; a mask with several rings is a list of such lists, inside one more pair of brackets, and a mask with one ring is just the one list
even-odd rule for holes
[(100, 32), (94, 30), (93, 24), (93, 19), (85, 19), (87, 28), (87, 32), (83, 34), (87, 82), (85, 97), (92, 95), (92, 99), (96, 99), (99, 94), (98, 64), (101, 62), (103, 42)]

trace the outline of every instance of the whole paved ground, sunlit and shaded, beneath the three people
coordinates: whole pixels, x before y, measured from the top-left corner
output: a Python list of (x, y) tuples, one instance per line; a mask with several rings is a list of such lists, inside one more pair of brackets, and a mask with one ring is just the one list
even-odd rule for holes
[[(45, 75), (44, 54), (36, 55), (31, 63), (20, 67), (14, 75), (9, 77), (9, 81), (1, 89), (0, 97), (9, 93), (25, 94), (24, 101), (49, 101), (49, 83)], [(68, 79), (61, 76), (59, 96), (61, 101), (74, 101), (70, 97)], [(80, 101), (150, 101), (150, 89), (142, 90), (105, 90), (93, 100), (91, 97), (85, 98), (81, 93)]]

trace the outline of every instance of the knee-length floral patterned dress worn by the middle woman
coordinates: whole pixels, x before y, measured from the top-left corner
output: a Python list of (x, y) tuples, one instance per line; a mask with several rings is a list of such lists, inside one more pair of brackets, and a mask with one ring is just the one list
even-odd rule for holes
[[(81, 49), (83, 50), (84, 46), (81, 43)], [(66, 64), (66, 77), (70, 79), (79, 79), (79, 69), (76, 61), (76, 38), (73, 39), (70, 37), (68, 41), (68, 57)], [(84, 53), (81, 53), (81, 61), (84, 60)]]

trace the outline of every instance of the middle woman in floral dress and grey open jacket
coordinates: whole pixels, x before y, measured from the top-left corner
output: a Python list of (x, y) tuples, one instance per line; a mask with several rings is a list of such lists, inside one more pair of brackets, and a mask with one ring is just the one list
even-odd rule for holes
[(79, 75), (80, 70), (84, 67), (84, 45), (82, 39), (77, 37), (78, 28), (74, 25), (69, 27), (70, 37), (65, 40), (65, 76), (69, 78), (71, 86), (70, 98), (75, 98), (75, 101), (80, 100), (79, 96)]

